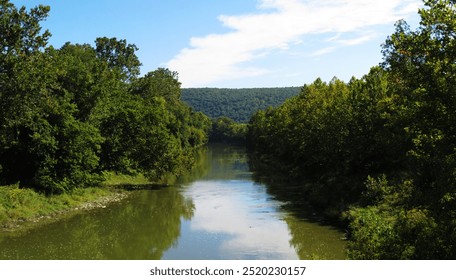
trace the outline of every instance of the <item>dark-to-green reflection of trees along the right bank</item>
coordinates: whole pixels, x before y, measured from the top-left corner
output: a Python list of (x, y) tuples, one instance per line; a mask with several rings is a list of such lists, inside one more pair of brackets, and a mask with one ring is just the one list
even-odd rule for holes
[(290, 180), (286, 174), (249, 157), (249, 167), (255, 182), (266, 186), (268, 194), (285, 202), (288, 213), (284, 221), (292, 236), (290, 244), (300, 259), (346, 259), (342, 232), (321, 224), (306, 200), (307, 191), (302, 184)]

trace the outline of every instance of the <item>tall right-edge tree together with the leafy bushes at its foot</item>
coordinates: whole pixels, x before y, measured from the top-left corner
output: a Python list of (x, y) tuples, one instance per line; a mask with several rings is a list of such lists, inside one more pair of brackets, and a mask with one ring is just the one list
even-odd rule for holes
[(382, 183), (376, 194), (368, 188), (371, 199), (351, 210), (357, 258), (456, 256), (456, 8), (448, 0), (425, 4), (419, 28), (399, 21), (383, 47), (394, 100), (387, 125), (402, 129), (406, 165), (399, 182)]

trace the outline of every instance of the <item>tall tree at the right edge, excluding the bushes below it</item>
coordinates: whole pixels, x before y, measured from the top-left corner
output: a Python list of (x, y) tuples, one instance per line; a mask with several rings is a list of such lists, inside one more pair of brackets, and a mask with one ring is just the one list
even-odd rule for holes
[(383, 52), (384, 67), (397, 81), (398, 119), (412, 143), (413, 172), (422, 174), (417, 187), (435, 202), (454, 191), (456, 10), (453, 1), (425, 3), (418, 30), (399, 22)]

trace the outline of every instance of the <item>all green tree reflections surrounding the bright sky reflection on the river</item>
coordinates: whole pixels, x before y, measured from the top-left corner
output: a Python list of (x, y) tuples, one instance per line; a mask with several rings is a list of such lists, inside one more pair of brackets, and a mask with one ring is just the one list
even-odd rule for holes
[[(177, 183), (186, 184), (201, 175), (208, 180), (251, 176), (246, 153), (240, 147), (204, 149), (198, 166), (187, 181)], [(290, 244), (299, 257), (344, 258), (343, 235), (306, 221), (311, 212), (302, 187), (284, 183), (284, 178), (273, 174), (276, 172), (255, 168), (253, 178), (265, 185), (274, 199), (285, 202), (289, 214), (284, 215), (284, 221), (292, 236)], [(150, 186), (106, 209), (36, 228), (22, 237), (5, 237), (0, 239), (0, 259), (160, 259), (176, 245), (182, 219), (190, 219), (195, 209), (180, 188)]]

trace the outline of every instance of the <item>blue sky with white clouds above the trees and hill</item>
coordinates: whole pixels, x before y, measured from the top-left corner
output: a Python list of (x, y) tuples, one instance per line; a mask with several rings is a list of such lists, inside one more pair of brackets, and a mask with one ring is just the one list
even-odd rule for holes
[(382, 61), (394, 23), (418, 25), (421, 0), (11, 0), (49, 5), (54, 47), (116, 37), (141, 73), (179, 73), (183, 88), (302, 86), (361, 78)]

